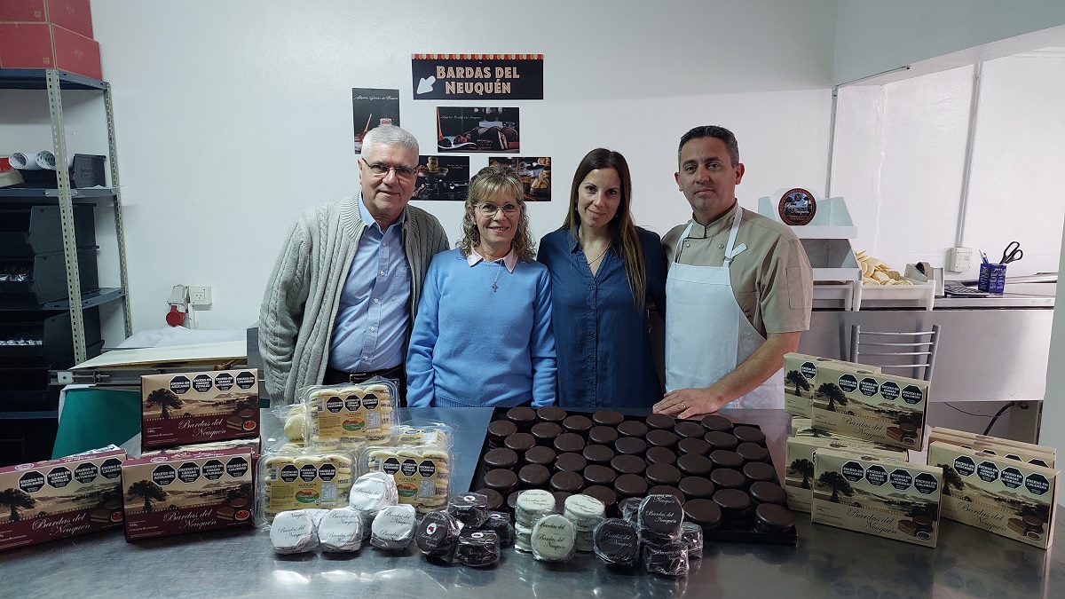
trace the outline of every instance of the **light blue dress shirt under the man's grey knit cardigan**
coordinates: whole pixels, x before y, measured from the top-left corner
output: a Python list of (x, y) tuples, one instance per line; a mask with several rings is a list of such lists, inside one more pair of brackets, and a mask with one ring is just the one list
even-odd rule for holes
[(366, 230), (347, 272), (329, 343), (329, 367), (345, 372), (403, 363), (410, 324), (410, 265), (403, 247), (407, 211), (381, 231), (362, 203), (362, 192), (358, 201)]

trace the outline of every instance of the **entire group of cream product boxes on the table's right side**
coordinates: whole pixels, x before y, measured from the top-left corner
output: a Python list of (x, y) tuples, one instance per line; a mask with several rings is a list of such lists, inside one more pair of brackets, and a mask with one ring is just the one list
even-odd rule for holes
[(1052, 448), (933, 428), (925, 381), (804, 354), (784, 359), (793, 415), (785, 489), (813, 521), (935, 547), (939, 517), (1036, 547), (1050, 544), (1058, 471)]

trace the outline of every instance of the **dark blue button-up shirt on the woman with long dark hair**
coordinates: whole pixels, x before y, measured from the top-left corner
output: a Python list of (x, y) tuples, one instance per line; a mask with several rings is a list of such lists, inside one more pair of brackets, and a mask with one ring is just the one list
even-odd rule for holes
[[(646, 304), (666, 308), (666, 253), (659, 237), (637, 227), (646, 273)], [(645, 408), (662, 399), (651, 353), (648, 311), (637, 310), (616, 247), (592, 276), (577, 238), (562, 228), (540, 240), (537, 260), (551, 271), (558, 405)]]

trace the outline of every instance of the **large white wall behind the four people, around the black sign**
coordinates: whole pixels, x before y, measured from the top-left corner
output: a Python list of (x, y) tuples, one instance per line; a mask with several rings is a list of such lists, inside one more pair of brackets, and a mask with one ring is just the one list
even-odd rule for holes
[[(351, 87), (398, 87), (402, 124), (430, 153), (435, 103), (411, 100), (414, 52), (545, 55), (546, 99), (505, 102), (522, 109), (522, 153), (554, 158), (556, 199), (530, 211), (537, 236), (561, 223), (569, 174), (600, 145), (632, 163), (640, 223), (665, 232), (687, 220), (672, 175), (694, 125), (736, 131), (744, 205), (816, 187), (835, 11), (835, 0), (94, 0), (114, 87), (133, 328), (162, 325), (178, 282), (213, 287), (201, 328), (256, 322), (288, 225), (357, 189)], [(456, 237), (457, 205), (422, 206)]]

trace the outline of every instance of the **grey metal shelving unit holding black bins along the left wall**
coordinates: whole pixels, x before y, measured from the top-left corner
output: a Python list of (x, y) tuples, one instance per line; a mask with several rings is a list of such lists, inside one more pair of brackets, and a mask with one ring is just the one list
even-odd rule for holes
[[(55, 163), (61, 165), (54, 181), (50, 181), (55, 185), (53, 189), (0, 189), (0, 208), (11, 220), (0, 227), (3, 243), (0, 261), (18, 277), (12, 278), (9, 273), (7, 280), (0, 284), (0, 323), (4, 323), (12, 339), (31, 341), (31, 345), (5, 347), (4, 359), (0, 361), (0, 465), (6, 465), (50, 457), (59, 416), (55, 410), (59, 387), (51, 385), (50, 373), (99, 355), (104, 342), (100, 333), (101, 312), (95, 307), (121, 302), (126, 337), (132, 334), (132, 319), (111, 84), (55, 69), (5, 68), (0, 69), (0, 90), (45, 93), (52, 152)], [(111, 187), (71, 187), (63, 116), (63, 92), (70, 90), (102, 96)], [(34, 96), (18, 94), (17, 98), (26, 101), (22, 98)], [(114, 211), (118, 288), (99, 288), (94, 209), (75, 210), (75, 206), (82, 205), (110, 205)], [(53, 208), (38, 208), (46, 206)], [(85, 211), (88, 218), (83, 214)], [(91, 228), (86, 230), (86, 226)], [(69, 327), (56, 318), (69, 319)], [(32, 344), (38, 340), (40, 345)]]

